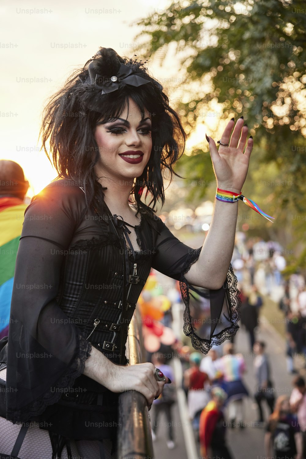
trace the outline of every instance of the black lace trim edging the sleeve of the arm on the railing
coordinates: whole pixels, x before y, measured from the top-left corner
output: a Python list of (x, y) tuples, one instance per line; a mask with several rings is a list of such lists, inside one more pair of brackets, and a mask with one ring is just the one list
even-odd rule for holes
[(58, 402), (62, 396), (62, 391), (57, 389), (63, 389), (70, 386), (73, 386), (74, 381), (78, 376), (82, 375), (85, 367), (85, 360), (89, 358), (91, 351), (91, 344), (89, 341), (82, 335), (78, 335), (77, 341), (77, 351), (76, 355), (72, 360), (67, 372), (57, 381), (55, 386), (52, 386), (52, 389), (55, 388), (54, 392), (46, 392), (42, 397), (39, 397), (38, 400), (35, 400), (33, 403), (28, 404), (26, 407), (23, 407), (19, 411), (10, 411), (7, 410), (6, 416), (7, 419), (15, 423), (26, 422), (29, 418), (33, 416), (38, 416), (42, 414), (48, 405), (53, 405)]

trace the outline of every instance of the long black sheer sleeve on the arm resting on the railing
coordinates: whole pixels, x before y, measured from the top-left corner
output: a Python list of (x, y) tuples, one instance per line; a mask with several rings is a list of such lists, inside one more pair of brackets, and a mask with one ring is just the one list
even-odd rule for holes
[(65, 251), (84, 210), (82, 190), (61, 182), (48, 185), (25, 211), (7, 345), (6, 409), (13, 422), (55, 403), (83, 373), (91, 350), (56, 302)]

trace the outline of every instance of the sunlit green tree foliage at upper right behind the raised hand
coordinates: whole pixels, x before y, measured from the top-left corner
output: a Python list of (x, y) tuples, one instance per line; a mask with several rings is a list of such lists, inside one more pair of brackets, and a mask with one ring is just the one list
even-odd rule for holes
[[(195, 129), (203, 103), (221, 103), (225, 119), (233, 112), (243, 115), (257, 146), (246, 184), (249, 197), (264, 194), (278, 215), (276, 227), (290, 227), (293, 239), (304, 237), (305, 220), (295, 217), (306, 214), (305, 1), (182, 0), (138, 25), (142, 32), (135, 39), (145, 39), (138, 52), (162, 62), (175, 44), (184, 85), (198, 83), (190, 100), (176, 107), (187, 132)], [(207, 78), (210, 90), (203, 95)], [(180, 167), (189, 178), (203, 179), (207, 158), (195, 150), (182, 157)], [(258, 173), (256, 178), (268, 164), (271, 181), (278, 180), (273, 188), (260, 185)], [(203, 196), (205, 187), (198, 191)], [(269, 213), (267, 206), (264, 210)]]

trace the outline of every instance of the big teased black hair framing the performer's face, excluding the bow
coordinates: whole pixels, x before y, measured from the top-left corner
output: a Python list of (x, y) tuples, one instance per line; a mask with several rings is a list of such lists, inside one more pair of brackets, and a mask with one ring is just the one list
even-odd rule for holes
[[(105, 81), (110, 81), (122, 63), (150, 83), (135, 87), (119, 82), (117, 90), (101, 95), (93, 76), (95, 78), (97, 74)], [(141, 113), (146, 109), (152, 119), (150, 160), (143, 174), (136, 178), (131, 195), (134, 196), (137, 213), (140, 208), (156, 212), (156, 202), (160, 200), (163, 205), (165, 201), (165, 169), (170, 173), (170, 181), (172, 174), (180, 177), (173, 170), (173, 165), (184, 152), (186, 134), (178, 114), (169, 106), (169, 99), (161, 84), (147, 72), (145, 62), (128, 60), (118, 56), (111, 48), (100, 47), (96, 55), (83, 68), (75, 70), (63, 88), (51, 96), (40, 129), (42, 147), (50, 161), (52, 158), (58, 173), (56, 179), (70, 178), (82, 186), (88, 206), (97, 195), (103, 200), (103, 190), (107, 188), (99, 184), (94, 170), (99, 159), (99, 148), (94, 138), (95, 127), (98, 122), (107, 122), (119, 116), (129, 98), (137, 104)], [(145, 197), (151, 197), (149, 207), (141, 201), (145, 188)]]

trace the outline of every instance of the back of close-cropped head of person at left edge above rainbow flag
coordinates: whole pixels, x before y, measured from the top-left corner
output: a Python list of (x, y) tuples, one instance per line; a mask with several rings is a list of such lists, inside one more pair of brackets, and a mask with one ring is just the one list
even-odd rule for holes
[(0, 160), (0, 197), (13, 196), (23, 201), (28, 187), (22, 167), (17, 162)]

